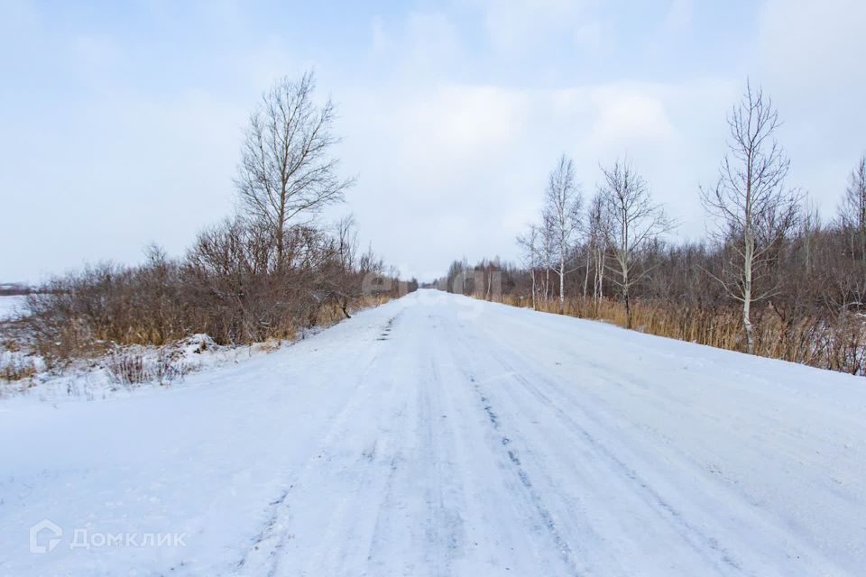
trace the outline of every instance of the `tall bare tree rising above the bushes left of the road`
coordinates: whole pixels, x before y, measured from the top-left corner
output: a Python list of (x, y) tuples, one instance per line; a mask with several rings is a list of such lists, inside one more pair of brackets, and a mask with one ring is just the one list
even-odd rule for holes
[(235, 186), (248, 215), (272, 230), (282, 267), (286, 231), (296, 221), (341, 201), (352, 179), (337, 175), (331, 147), (335, 109), (313, 101), (315, 80), (281, 78), (250, 116)]

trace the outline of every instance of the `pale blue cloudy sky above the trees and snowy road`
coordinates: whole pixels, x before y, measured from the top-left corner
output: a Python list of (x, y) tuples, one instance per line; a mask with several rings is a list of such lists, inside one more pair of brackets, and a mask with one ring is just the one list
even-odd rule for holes
[(358, 176), (332, 216), (422, 279), (515, 258), (563, 152), (586, 194), (628, 154), (700, 237), (747, 77), (831, 215), (866, 151), (863, 22), (862, 0), (0, 0), (0, 282), (182, 254), (234, 210), (260, 93), (310, 68)]

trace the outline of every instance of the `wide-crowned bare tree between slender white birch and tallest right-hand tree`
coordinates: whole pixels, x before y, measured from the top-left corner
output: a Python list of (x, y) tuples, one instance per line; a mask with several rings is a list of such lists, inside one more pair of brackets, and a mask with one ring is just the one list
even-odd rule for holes
[(649, 272), (648, 268), (635, 269), (638, 257), (659, 234), (668, 232), (672, 223), (664, 209), (653, 203), (650, 188), (629, 160), (617, 160), (602, 172), (604, 184), (599, 194), (610, 218), (606, 241), (615, 261), (612, 269), (618, 275), (614, 282), (625, 302), (626, 325), (631, 328), (631, 287)]

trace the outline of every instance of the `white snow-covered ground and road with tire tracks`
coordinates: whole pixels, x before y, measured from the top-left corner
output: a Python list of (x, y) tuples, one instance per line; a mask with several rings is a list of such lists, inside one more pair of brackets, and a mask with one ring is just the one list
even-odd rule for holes
[(0, 402), (0, 575), (864, 568), (866, 380), (438, 292), (176, 388)]

